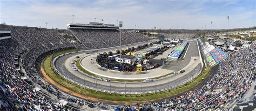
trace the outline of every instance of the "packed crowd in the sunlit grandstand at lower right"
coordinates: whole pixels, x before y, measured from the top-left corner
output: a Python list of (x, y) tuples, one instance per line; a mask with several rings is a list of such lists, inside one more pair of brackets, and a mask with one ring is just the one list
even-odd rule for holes
[[(255, 46), (253, 46), (255, 47)], [(204, 86), (178, 97), (144, 103), (142, 110), (187, 109), (217, 110), (230, 109), (249, 90), (254, 81), (255, 54), (251, 49), (243, 49), (230, 54), (219, 64), (217, 73)], [(119, 106), (120, 110), (127, 106)], [(132, 106), (137, 107), (137, 106)]]

